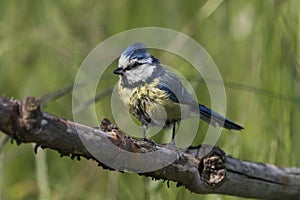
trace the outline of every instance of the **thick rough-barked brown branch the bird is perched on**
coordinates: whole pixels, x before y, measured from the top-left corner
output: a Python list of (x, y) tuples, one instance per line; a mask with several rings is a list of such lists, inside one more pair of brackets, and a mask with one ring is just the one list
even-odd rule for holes
[[(177, 155), (178, 158), (173, 163), (139, 175), (175, 181), (177, 186), (185, 186), (191, 192), (199, 194), (215, 193), (263, 199), (299, 198), (300, 168), (280, 168), (238, 160), (210, 145), (181, 150), (171, 145), (136, 140), (123, 134), (107, 119), (97, 129), (44, 113), (39, 102), (32, 97), (22, 101), (0, 97), (0, 130), (18, 144), (36, 143), (36, 147), (56, 150), (62, 156), (95, 160), (100, 166), (110, 170), (115, 169), (101, 162), (102, 158), (94, 156), (82, 139), (98, 147), (105, 146), (108, 139), (120, 152), (148, 153), (160, 150), (166, 156)], [(110, 159), (123, 162), (118, 154)], [(118, 170), (125, 171), (126, 168)]]

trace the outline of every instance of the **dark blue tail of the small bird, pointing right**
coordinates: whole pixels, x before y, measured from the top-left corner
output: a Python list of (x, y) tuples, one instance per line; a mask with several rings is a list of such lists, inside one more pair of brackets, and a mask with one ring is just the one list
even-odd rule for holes
[(242, 126), (234, 123), (233, 121), (226, 119), (219, 113), (216, 113), (209, 108), (205, 107), (204, 105), (199, 104), (199, 111), (200, 111), (200, 119), (203, 121), (216, 126), (218, 124), (219, 126), (222, 126), (226, 129), (234, 129), (234, 130), (242, 130), (244, 129)]

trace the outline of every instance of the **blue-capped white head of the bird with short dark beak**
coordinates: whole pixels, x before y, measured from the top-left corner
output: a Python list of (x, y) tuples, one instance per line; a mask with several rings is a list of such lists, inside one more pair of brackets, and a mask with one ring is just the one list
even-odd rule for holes
[(159, 60), (147, 52), (144, 44), (135, 43), (121, 54), (114, 74), (120, 75), (124, 86), (134, 87), (151, 80), (158, 68)]

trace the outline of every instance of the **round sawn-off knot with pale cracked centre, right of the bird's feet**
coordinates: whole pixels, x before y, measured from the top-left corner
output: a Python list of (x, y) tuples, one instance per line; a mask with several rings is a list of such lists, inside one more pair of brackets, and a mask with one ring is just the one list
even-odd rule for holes
[(206, 186), (216, 188), (226, 178), (225, 153), (215, 146), (202, 145), (199, 149), (199, 174)]

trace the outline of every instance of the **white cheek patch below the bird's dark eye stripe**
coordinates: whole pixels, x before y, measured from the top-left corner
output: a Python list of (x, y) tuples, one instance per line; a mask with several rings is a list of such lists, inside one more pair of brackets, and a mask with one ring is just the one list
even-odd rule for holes
[(155, 67), (155, 65), (144, 64), (127, 71), (126, 77), (128, 82), (134, 84), (136, 82), (146, 81), (149, 77), (152, 76)]

